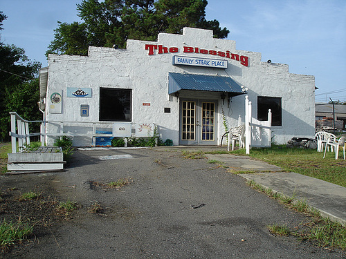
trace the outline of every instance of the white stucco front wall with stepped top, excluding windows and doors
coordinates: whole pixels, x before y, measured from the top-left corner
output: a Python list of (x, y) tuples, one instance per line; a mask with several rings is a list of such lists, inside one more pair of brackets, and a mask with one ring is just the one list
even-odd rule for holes
[[(176, 47), (179, 52), (148, 55), (145, 44)], [(228, 68), (201, 68), (173, 66), (173, 55), (225, 59), (201, 53), (184, 53), (183, 46), (226, 51), (248, 57), (248, 66), (228, 60)], [(282, 97), (282, 126), (273, 127), (273, 140), (286, 143), (294, 136), (312, 137), (314, 134), (314, 77), (289, 73), (284, 64), (267, 64), (258, 52), (236, 50), (235, 41), (212, 38), (211, 30), (184, 28), (183, 35), (161, 33), (158, 41), (128, 40), (125, 50), (89, 47), (89, 56), (49, 55), (46, 118), (48, 122), (99, 122), (100, 87), (132, 89), (132, 122), (156, 123), (163, 141), (170, 138), (179, 143), (179, 102), (168, 95), (168, 73), (192, 73), (232, 77), (248, 88), (253, 102), (253, 115), (257, 115), (257, 96)], [(91, 88), (91, 98), (66, 97), (67, 88)], [(62, 91), (62, 113), (51, 113), (49, 97)], [(181, 97), (199, 97), (218, 100), (218, 142), (224, 134), (221, 110), (228, 117), (230, 126), (237, 125), (238, 115), (244, 118), (244, 95), (233, 97), (230, 106), (220, 93), (181, 93)], [(149, 103), (150, 106), (143, 106)], [(80, 116), (80, 104), (89, 104), (89, 117)], [(171, 113), (164, 113), (164, 108)], [(49, 126), (50, 125), (50, 126)], [(48, 124), (48, 131), (55, 131)], [(91, 128), (84, 128), (85, 132)], [(75, 146), (90, 146), (91, 139), (75, 137)]]

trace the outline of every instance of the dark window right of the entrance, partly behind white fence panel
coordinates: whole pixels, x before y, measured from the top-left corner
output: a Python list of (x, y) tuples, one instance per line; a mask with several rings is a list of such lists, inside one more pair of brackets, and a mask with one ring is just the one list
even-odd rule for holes
[(271, 109), (272, 126), (282, 126), (282, 108), (280, 97), (257, 97), (257, 119), (268, 120), (268, 110)]

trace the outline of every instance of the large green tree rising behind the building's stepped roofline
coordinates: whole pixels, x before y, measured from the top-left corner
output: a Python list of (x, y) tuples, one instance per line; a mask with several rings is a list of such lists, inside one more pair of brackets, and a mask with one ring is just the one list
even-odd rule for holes
[(206, 20), (206, 0), (83, 0), (77, 5), (82, 23), (61, 23), (48, 46), (49, 53), (86, 55), (88, 46), (117, 45), (127, 39), (154, 41), (160, 32), (179, 34), (184, 27), (213, 30), (226, 38), (229, 30), (219, 21)]

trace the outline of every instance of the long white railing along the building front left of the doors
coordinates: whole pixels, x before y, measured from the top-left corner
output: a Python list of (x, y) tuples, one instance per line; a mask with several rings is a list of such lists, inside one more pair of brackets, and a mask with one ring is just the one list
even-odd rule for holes
[[(44, 122), (28, 121), (15, 112), (10, 112), (11, 116), (11, 142), (12, 153), (17, 153), (17, 143), (19, 152), (30, 144), (30, 137), (40, 136), (42, 146), (47, 144), (47, 137), (89, 137), (91, 146), (95, 146), (96, 137), (123, 137), (127, 146), (126, 137), (156, 137), (158, 142), (157, 124), (135, 124), (132, 122)], [(41, 123), (39, 133), (29, 133), (29, 123)], [(47, 133), (47, 126), (53, 127)], [(90, 131), (86, 131), (90, 128)], [(54, 131), (54, 132), (53, 132)], [(107, 132), (107, 133), (105, 133)]]

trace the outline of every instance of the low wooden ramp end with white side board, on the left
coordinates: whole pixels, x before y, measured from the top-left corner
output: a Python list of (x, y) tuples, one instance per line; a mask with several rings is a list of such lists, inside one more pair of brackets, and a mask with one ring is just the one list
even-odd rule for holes
[(61, 148), (40, 146), (34, 151), (8, 153), (6, 174), (62, 171), (65, 163)]

